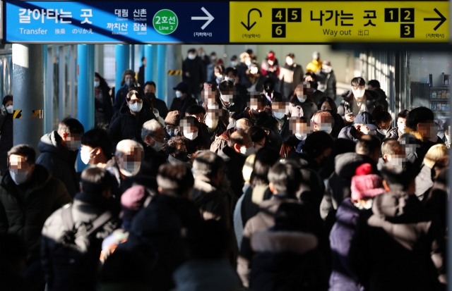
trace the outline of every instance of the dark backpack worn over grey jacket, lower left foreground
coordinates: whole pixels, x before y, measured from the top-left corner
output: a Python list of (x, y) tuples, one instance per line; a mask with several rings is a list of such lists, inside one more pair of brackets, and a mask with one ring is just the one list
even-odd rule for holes
[(62, 209), (62, 216), (65, 231), (52, 252), (51, 285), (57, 290), (69, 290), (68, 287), (81, 290), (81, 286), (90, 284), (98, 266), (102, 240), (93, 245), (94, 235), (112, 218), (112, 213), (106, 211), (91, 223), (74, 223), (70, 204)]

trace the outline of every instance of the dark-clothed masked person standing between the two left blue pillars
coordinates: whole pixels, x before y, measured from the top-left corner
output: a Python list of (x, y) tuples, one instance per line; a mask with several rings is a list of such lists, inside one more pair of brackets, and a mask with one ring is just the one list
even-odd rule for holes
[(108, 125), (113, 117), (112, 97), (110, 88), (99, 73), (94, 73), (94, 123)]

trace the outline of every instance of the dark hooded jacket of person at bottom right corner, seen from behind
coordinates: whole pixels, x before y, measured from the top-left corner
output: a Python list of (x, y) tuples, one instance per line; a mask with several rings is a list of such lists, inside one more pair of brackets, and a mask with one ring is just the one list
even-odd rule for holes
[(414, 194), (383, 193), (359, 216), (350, 263), (369, 291), (441, 290), (444, 235)]

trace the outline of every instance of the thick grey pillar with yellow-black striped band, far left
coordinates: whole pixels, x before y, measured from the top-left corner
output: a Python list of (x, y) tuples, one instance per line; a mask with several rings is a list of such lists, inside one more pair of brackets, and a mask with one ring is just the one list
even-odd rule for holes
[(30, 144), (36, 154), (44, 135), (45, 80), (47, 45), (13, 44), (13, 144)]

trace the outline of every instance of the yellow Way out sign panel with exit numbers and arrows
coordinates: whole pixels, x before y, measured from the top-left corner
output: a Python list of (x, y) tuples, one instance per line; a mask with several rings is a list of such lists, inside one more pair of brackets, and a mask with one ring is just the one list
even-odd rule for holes
[(230, 2), (230, 42), (448, 42), (448, 1)]

